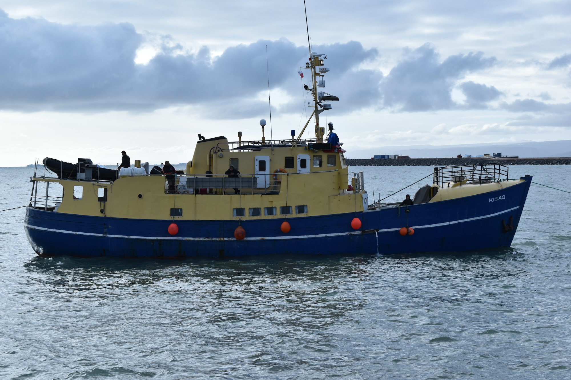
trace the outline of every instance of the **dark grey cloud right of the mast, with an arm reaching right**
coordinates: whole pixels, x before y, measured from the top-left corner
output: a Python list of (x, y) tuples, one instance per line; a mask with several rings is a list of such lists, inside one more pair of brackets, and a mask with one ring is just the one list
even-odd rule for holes
[(470, 52), (440, 62), (440, 55), (428, 43), (409, 51), (381, 84), (384, 106), (411, 112), (455, 108), (451, 92), (457, 80), (496, 63), (496, 58), (483, 55)]

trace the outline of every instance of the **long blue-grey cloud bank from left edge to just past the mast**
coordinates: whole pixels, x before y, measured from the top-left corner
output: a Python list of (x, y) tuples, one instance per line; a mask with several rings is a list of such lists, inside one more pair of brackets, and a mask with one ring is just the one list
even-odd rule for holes
[[(152, 111), (204, 104), (204, 113), (212, 117), (250, 117), (267, 104), (255, 99), (267, 88), (266, 45), (271, 86), (301, 99), (296, 67), (305, 66), (308, 51), (287, 39), (228, 47), (216, 57), (206, 47), (196, 54), (181, 54), (179, 45), (165, 43), (146, 65), (134, 62), (142, 42), (142, 35), (128, 23), (61, 25), (12, 19), (0, 10), (0, 108)], [(377, 56), (375, 49), (355, 41), (315, 49), (328, 54), (332, 79), (347, 84), (373, 80), (373, 86), (380, 80), (378, 73), (357, 68)], [(344, 107), (363, 105), (360, 96), (364, 95), (345, 94)]]

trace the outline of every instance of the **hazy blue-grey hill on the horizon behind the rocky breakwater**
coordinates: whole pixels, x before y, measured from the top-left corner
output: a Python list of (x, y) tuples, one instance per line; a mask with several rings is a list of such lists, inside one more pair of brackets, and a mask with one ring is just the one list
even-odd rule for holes
[[(367, 159), (373, 156), (373, 148), (356, 147), (345, 153), (349, 159)], [(571, 157), (571, 140), (490, 143), (459, 145), (393, 145), (375, 148), (376, 155), (407, 155), (411, 158), (456, 157), (457, 155), (484, 155), (501, 152), (504, 156), (519, 157)]]

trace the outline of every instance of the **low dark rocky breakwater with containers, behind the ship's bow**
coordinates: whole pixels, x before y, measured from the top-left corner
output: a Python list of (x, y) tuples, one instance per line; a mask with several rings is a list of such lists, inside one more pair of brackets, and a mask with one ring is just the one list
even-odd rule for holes
[(472, 158), (422, 158), (422, 159), (348, 159), (350, 166), (446, 166), (446, 165), (571, 165), (571, 157), (501, 159)]

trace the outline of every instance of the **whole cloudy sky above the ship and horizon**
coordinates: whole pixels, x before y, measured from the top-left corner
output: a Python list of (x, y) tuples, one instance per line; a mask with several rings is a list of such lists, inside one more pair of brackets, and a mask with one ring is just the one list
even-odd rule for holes
[[(571, 2), (307, 1), (349, 151), (571, 139)], [(0, 166), (190, 160), (309, 115), (303, 1), (0, 0)], [(323, 125), (323, 124), (322, 124)], [(312, 133), (313, 128), (308, 127)], [(311, 137), (306, 133), (307, 137)], [(357, 157), (355, 157), (357, 158)]]

